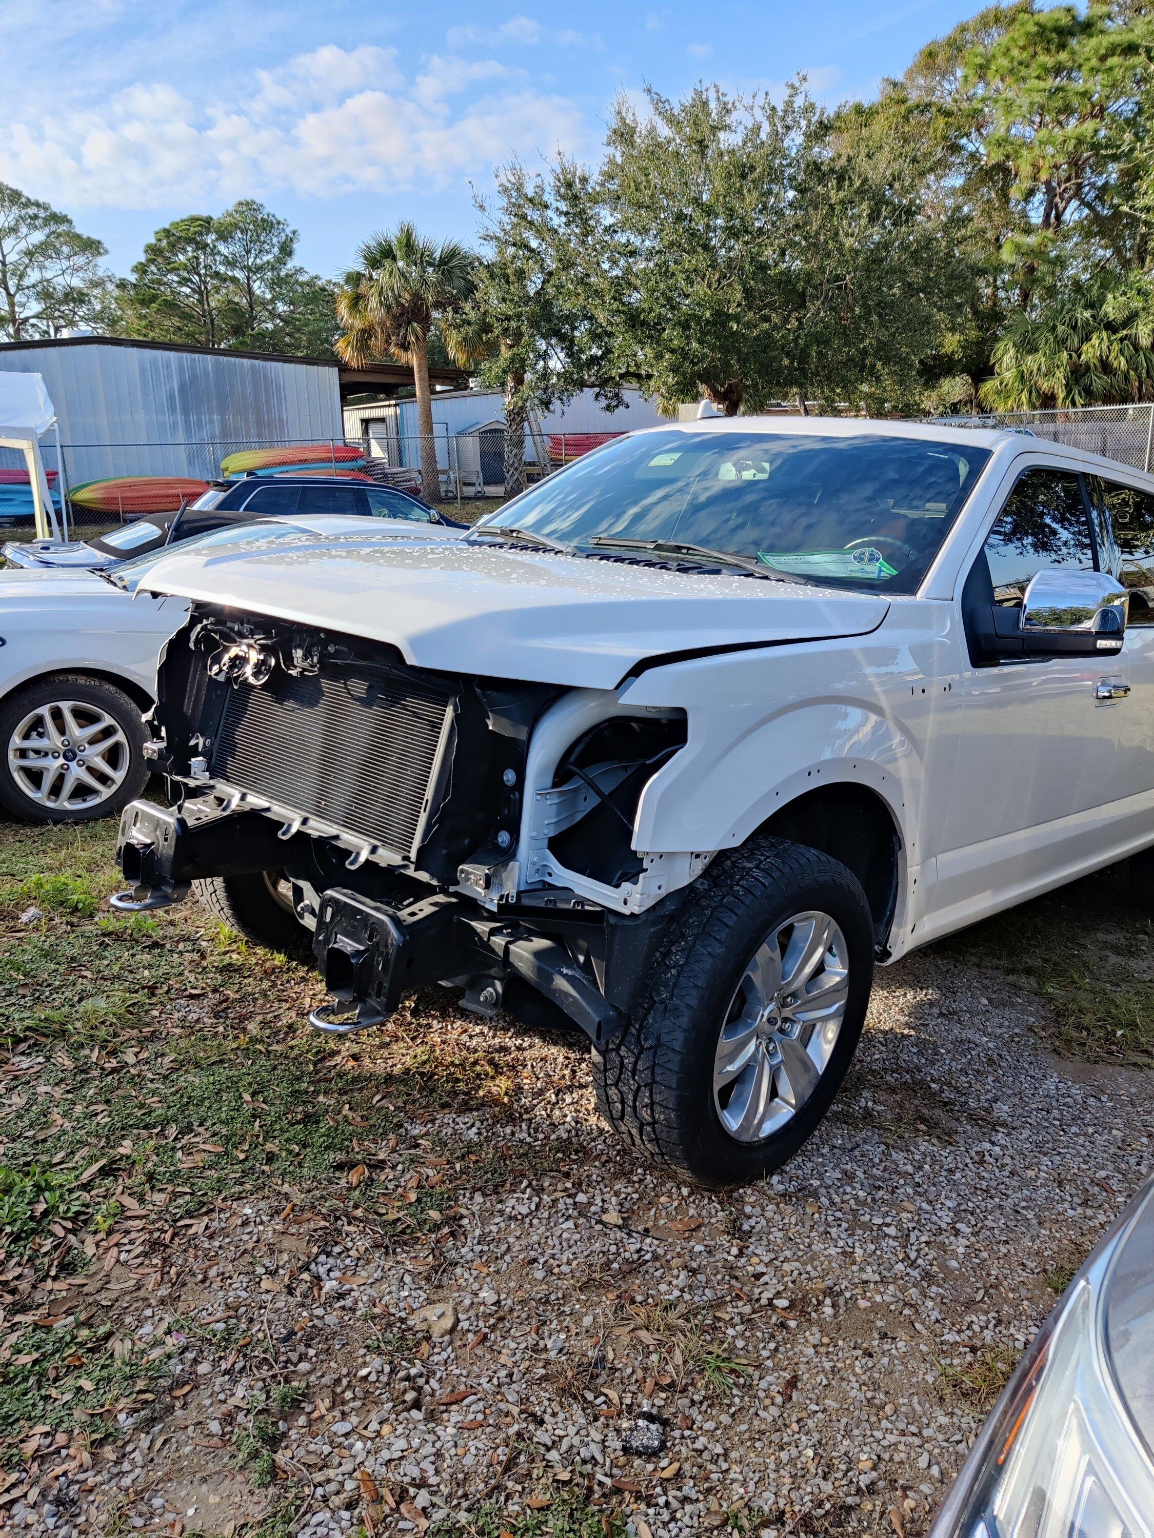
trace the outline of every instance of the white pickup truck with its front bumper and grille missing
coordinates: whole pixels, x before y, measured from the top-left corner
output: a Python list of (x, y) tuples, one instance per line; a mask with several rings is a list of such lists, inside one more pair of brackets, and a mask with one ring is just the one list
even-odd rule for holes
[(462, 540), (189, 549), (120, 860), (312, 932), (326, 1030), (575, 1023), (702, 1183), (815, 1129), (876, 961), (1154, 844), (1154, 477), (1023, 434), (617, 440)]

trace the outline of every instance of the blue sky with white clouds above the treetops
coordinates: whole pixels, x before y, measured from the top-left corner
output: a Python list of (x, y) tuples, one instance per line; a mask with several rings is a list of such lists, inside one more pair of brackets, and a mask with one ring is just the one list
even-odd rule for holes
[(400, 217), (471, 238), (512, 155), (595, 158), (619, 92), (699, 80), (871, 95), (976, 0), (520, 6), (0, 0), (0, 180), (128, 271), (157, 225), (257, 197), (326, 277)]

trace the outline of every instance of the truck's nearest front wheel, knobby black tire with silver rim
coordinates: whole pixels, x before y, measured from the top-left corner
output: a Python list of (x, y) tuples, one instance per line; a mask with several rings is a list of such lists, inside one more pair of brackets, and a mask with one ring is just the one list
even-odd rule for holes
[(640, 1009), (594, 1052), (602, 1114), (680, 1178), (759, 1180), (829, 1109), (872, 970), (869, 904), (840, 861), (779, 838), (720, 857), (679, 910)]

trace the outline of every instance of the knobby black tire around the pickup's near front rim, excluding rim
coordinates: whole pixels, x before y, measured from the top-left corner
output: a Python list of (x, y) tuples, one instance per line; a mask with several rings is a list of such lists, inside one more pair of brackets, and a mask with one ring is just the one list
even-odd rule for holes
[[(846, 941), (842, 1026), (809, 1098), (779, 1132), (743, 1143), (723, 1126), (714, 1100), (723, 1015), (766, 935), (811, 910), (834, 918)], [(746, 1184), (799, 1150), (852, 1061), (874, 972), (869, 904), (840, 861), (802, 844), (755, 838), (714, 860), (669, 929), (640, 1007), (605, 1050), (594, 1049), (597, 1104), (614, 1130), (679, 1180)]]

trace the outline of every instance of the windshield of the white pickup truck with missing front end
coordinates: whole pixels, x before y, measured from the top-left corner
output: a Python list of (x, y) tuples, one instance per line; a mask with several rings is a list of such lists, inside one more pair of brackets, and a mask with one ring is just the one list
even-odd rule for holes
[(914, 592), (988, 458), (925, 438), (643, 432), (585, 455), (479, 528), (583, 552), (615, 554), (614, 538), (695, 544), (766, 574)]

